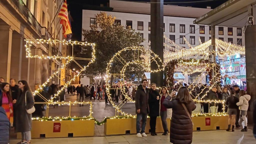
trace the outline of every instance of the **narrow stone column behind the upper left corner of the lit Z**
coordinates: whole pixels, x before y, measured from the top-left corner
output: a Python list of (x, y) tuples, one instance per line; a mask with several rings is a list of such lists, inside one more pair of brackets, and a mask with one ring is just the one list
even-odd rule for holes
[[(42, 55), (42, 50), (37, 49), (36, 50), (36, 55), (41, 56)], [(35, 62), (35, 83), (38, 83), (39, 85), (41, 85), (41, 83), (42, 83), (41, 78), (42, 78), (42, 59), (36, 58), (36, 62)]]

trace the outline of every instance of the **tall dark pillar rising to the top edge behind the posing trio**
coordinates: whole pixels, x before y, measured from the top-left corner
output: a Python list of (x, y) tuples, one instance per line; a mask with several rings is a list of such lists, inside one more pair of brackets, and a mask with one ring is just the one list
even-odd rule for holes
[[(151, 0), (151, 50), (164, 61), (164, 0)], [(160, 65), (160, 63), (158, 63)], [(151, 70), (158, 68), (153, 61), (150, 65)], [(164, 85), (164, 72), (151, 73), (151, 83), (156, 86)]]

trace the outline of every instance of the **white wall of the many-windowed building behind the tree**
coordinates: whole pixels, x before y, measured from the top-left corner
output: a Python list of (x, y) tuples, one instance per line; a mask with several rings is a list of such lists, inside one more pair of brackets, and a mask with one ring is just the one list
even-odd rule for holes
[[(183, 7), (183, 9), (186, 9), (188, 7)], [(200, 10), (201, 8), (199, 8)], [(90, 18), (94, 18), (96, 14), (100, 13), (101, 11), (93, 11), (93, 10), (83, 10), (83, 16), (82, 16), (82, 28), (83, 29), (90, 29)], [(103, 12), (103, 11), (102, 11)], [(106, 12), (109, 15), (115, 16), (116, 19), (121, 20), (121, 25), (126, 25), (126, 20), (132, 20), (132, 28), (135, 29), (136, 32), (143, 33), (143, 38), (146, 39), (141, 45), (149, 45), (148, 43), (148, 34), (150, 34), (150, 31), (148, 31), (148, 22), (150, 22), (150, 15), (147, 14), (133, 14), (133, 13), (121, 13), (121, 12)], [(169, 35), (175, 35), (175, 43), (188, 48), (186, 44), (180, 44), (179, 37), (180, 35), (186, 35), (186, 39), (189, 41), (190, 36), (195, 36), (195, 45), (199, 45), (198, 39), (199, 36), (205, 37), (205, 41), (209, 40), (209, 37), (211, 35), (209, 34), (209, 27), (205, 26), (205, 34), (199, 34), (199, 25), (193, 24), (193, 20), (195, 18), (186, 18), (186, 17), (173, 17), (173, 16), (164, 16), (164, 23), (165, 23), (165, 32), (164, 35), (166, 35), (169, 38)], [(137, 22), (143, 21), (143, 30), (137, 30)], [(175, 24), (175, 33), (170, 33), (169, 24), (173, 23)], [(180, 33), (179, 25), (185, 24), (185, 33)], [(195, 34), (190, 34), (190, 28), (189, 25), (195, 25)], [(218, 35), (218, 26), (216, 27), (216, 38), (223, 37), (224, 41), (228, 41), (228, 38), (233, 38), (233, 43), (237, 43), (237, 38), (241, 38), (241, 36), (237, 36), (237, 29), (233, 28), (233, 36), (228, 36), (228, 28), (224, 27), (224, 35)], [(83, 39), (83, 37), (82, 37)], [(242, 37), (242, 45), (244, 46), (244, 36)]]

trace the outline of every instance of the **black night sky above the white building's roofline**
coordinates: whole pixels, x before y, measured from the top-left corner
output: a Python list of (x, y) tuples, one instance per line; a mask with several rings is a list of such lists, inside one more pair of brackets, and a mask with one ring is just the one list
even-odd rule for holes
[[(134, 1), (134, 2), (150, 2), (150, 0), (125, 0), (125, 1)], [(191, 7), (199, 7), (206, 8), (207, 6), (211, 6), (211, 8), (215, 8), (222, 3), (225, 3), (228, 0), (208, 0), (207, 2), (195, 2), (195, 1), (206, 1), (206, 0), (164, 0), (164, 2), (193, 2), (193, 3), (164, 3), (169, 5), (178, 5), (178, 6), (191, 6)], [(68, 10), (70, 11), (70, 15), (73, 18), (73, 22), (71, 22), (72, 27), (72, 40), (81, 41), (81, 29), (82, 29), (82, 10), (83, 9), (91, 9), (91, 10), (102, 10), (108, 11), (106, 9), (108, 0), (67, 0)], [(100, 7), (100, 4), (103, 4), (104, 7)]]

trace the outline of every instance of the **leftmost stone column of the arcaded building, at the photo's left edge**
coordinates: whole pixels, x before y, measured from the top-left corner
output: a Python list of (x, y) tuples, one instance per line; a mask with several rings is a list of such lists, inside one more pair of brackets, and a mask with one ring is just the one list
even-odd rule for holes
[(0, 25), (0, 77), (6, 82), (10, 81), (10, 66), (12, 53), (12, 33), (13, 30), (9, 25)]

